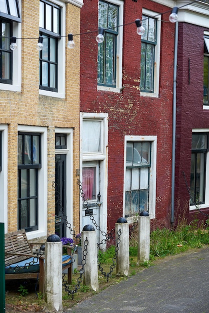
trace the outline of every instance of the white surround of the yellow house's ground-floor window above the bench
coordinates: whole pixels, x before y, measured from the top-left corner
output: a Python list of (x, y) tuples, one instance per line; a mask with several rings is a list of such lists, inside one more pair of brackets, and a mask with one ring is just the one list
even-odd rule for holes
[(27, 232), (27, 238), (33, 239), (47, 235), (47, 128), (18, 125), (17, 130), (41, 134), (41, 168), (38, 169), (38, 229)]

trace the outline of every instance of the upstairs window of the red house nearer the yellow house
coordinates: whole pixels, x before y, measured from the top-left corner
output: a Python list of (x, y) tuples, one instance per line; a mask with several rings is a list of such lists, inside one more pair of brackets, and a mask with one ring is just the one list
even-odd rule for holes
[(98, 27), (105, 28), (104, 41), (98, 44), (97, 82), (116, 86), (116, 41), (118, 35), (119, 6), (99, 1)]

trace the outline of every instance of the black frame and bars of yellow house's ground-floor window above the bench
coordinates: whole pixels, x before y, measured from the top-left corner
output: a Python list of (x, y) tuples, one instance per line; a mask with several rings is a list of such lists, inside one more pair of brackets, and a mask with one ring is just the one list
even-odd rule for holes
[[(22, 163), (17, 164), (17, 171), (18, 171), (18, 188), (17, 188), (17, 207), (18, 207), (18, 213), (17, 213), (17, 227), (18, 229), (24, 228), (25, 231), (33, 231), (38, 229), (38, 169), (41, 168), (41, 134), (39, 132), (25, 132), (25, 131), (18, 131), (18, 135), (22, 136), (22, 146), (21, 146), (21, 159)], [(24, 157), (24, 142), (25, 142), (25, 135), (31, 136), (31, 160), (32, 162), (30, 164), (25, 164), (25, 157)], [(33, 143), (32, 143), (32, 136), (38, 136), (38, 163), (33, 163)], [(35, 194), (30, 195), (30, 169), (35, 170)], [(21, 196), (21, 175), (22, 170), (26, 170), (26, 176), (27, 176), (27, 196)], [(29, 225), (29, 218), (30, 218), (30, 200), (35, 200), (35, 225), (30, 226)], [(27, 225), (22, 226), (21, 223), (21, 202), (26, 201), (27, 202)]]

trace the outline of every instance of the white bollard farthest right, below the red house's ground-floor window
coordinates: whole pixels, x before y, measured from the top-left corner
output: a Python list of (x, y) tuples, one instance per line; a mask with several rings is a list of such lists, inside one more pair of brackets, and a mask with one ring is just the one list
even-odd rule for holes
[(145, 216), (145, 212), (142, 212), (141, 216), (138, 216), (138, 257), (137, 264), (143, 263), (149, 260), (150, 250), (150, 217)]

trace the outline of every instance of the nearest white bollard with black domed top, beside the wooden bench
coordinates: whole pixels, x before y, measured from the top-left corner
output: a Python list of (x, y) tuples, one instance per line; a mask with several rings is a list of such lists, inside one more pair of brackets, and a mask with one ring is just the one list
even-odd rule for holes
[(45, 243), (44, 310), (61, 313), (62, 309), (62, 242), (56, 234), (49, 235)]

